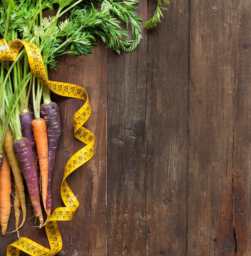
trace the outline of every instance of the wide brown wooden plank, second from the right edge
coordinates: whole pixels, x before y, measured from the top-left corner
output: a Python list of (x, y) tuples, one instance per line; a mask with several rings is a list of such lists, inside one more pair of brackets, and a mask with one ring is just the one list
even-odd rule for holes
[(233, 3), (190, 4), (187, 255), (235, 255)]

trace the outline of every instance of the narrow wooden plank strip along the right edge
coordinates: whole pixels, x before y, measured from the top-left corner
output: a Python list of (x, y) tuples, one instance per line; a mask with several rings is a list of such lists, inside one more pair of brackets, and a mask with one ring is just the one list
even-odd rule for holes
[(234, 98), (233, 195), (236, 255), (251, 255), (251, 3), (234, 1), (236, 78)]

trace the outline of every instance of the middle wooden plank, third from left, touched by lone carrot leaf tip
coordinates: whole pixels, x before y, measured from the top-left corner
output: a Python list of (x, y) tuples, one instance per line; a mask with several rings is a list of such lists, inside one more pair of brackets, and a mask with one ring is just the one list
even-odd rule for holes
[[(155, 5), (151, 2), (150, 15)], [(146, 255), (186, 254), (189, 20), (170, 1), (149, 31), (146, 117)]]

